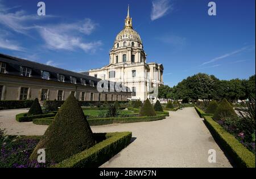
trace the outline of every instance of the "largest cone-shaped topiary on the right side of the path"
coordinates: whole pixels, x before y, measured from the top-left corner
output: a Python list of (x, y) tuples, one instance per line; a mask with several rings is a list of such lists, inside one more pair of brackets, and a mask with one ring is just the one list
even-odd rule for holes
[(213, 119), (214, 120), (225, 120), (226, 117), (236, 116), (236, 112), (229, 104), (229, 101), (225, 98), (218, 105), (218, 108), (214, 112)]

